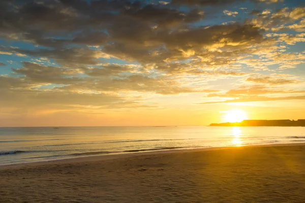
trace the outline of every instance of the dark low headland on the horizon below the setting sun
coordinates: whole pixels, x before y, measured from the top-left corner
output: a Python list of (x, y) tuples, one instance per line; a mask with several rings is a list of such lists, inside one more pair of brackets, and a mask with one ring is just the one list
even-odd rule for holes
[(302, 126), (305, 127), (305, 119), (299, 120), (243, 120), (235, 123), (211, 123), (210, 126)]

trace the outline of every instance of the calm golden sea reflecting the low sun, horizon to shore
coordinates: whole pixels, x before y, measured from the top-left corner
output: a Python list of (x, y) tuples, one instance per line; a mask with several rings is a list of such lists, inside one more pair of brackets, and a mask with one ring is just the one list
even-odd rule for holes
[(305, 143), (305, 127), (4, 127), (0, 165), (80, 156)]

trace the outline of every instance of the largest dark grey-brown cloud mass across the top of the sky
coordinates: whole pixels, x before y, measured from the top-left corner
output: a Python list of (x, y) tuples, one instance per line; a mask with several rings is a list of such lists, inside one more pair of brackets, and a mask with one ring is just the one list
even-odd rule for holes
[[(202, 1), (203, 4), (213, 2)], [(103, 10), (98, 11), (99, 8)], [(260, 31), (250, 24), (188, 25), (203, 18), (200, 10), (180, 11), (170, 7), (170, 4), (145, 5), (128, 1), (95, 1), (92, 4), (83, 1), (31, 2), (22, 4), (14, 13), (7, 13), (4, 20), (10, 20), (11, 26), (4, 26), (2, 35), (7, 33), (6, 37), (10, 38), (14, 33), (18, 40), (51, 47), (18, 50), (18, 53), (52, 58), (68, 68), (98, 65), (101, 62), (99, 58), (110, 57), (141, 64), (203, 58), (207, 55), (206, 49), (223, 49), (222, 52), (230, 54), (242, 46), (247, 52), (246, 46), (250, 48), (263, 42)], [(79, 45), (101, 48), (93, 50)]]

